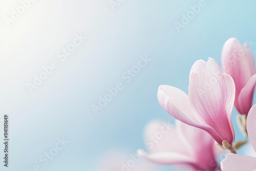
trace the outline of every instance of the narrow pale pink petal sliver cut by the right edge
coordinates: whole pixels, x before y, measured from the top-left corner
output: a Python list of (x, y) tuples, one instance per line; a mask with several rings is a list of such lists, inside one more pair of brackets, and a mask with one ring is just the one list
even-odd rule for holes
[(256, 104), (252, 106), (248, 113), (246, 125), (249, 140), (256, 152)]

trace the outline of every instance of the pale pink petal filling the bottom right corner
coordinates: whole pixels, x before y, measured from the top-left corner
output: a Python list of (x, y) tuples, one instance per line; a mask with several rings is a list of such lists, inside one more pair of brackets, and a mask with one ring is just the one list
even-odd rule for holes
[(227, 154), (221, 162), (223, 170), (232, 171), (251, 171), (256, 169), (256, 158), (250, 156), (241, 156), (237, 154)]

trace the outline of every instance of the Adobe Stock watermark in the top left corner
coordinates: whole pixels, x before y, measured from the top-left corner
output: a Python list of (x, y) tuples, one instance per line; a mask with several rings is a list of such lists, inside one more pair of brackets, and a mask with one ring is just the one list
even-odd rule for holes
[(20, 15), (24, 14), (25, 11), (29, 9), (31, 4), (34, 2), (36, 2), (36, 0), (20, 0), (19, 6), (17, 6), (16, 9), (11, 9), (10, 17), (4, 17), (7, 27), (10, 27), (10, 24), (14, 23), (20, 17)]

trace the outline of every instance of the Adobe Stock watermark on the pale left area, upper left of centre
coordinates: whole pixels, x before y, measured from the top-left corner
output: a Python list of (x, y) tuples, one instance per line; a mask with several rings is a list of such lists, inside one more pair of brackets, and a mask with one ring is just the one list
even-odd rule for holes
[[(72, 52), (79, 47), (87, 37), (75, 34), (75, 38), (73, 41), (65, 48), (62, 48), (57, 52), (57, 58), (60, 59), (61, 62), (65, 61), (68, 56), (72, 55)], [(32, 94), (34, 89), (37, 89), (44, 80), (46, 80), (53, 72), (59, 67), (60, 62), (57, 60), (52, 60), (49, 66), (43, 66), (42, 71), (38, 74), (34, 74), (34, 79), (32, 82), (27, 83), (27, 88), (29, 92)]]

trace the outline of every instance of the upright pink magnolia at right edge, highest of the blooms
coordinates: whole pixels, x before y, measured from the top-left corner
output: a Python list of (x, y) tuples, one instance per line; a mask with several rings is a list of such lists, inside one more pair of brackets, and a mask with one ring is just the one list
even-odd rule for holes
[(236, 38), (229, 38), (222, 49), (221, 63), (223, 72), (229, 74), (236, 84), (234, 106), (240, 114), (247, 115), (256, 85), (254, 59), (249, 46), (242, 46)]

